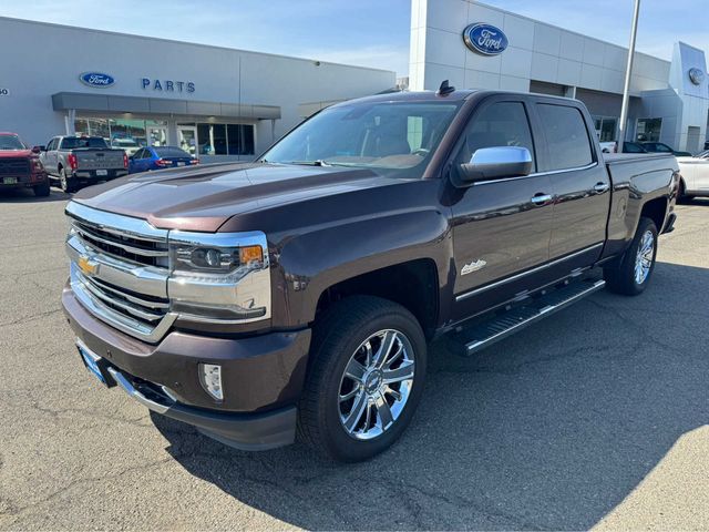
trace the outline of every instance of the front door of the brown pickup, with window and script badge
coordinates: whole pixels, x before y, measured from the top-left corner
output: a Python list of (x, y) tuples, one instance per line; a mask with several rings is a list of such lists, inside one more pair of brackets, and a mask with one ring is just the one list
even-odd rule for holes
[[(482, 147), (521, 146), (536, 153), (526, 104), (513, 96), (483, 103), (463, 135), (454, 165)], [(546, 174), (477, 182), (452, 188), (455, 305), (463, 319), (514, 299), (543, 284), (538, 266), (548, 260), (552, 184)]]

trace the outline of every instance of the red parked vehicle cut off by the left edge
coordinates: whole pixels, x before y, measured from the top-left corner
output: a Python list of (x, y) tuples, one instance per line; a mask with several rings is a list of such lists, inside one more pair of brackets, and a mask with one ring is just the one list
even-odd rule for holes
[(49, 196), (49, 178), (39, 147), (29, 149), (16, 133), (0, 132), (0, 188), (28, 187)]

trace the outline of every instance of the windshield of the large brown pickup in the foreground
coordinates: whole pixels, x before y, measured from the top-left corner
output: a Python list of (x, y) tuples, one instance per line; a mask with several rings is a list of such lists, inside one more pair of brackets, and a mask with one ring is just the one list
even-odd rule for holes
[(460, 102), (338, 105), (302, 123), (263, 160), (420, 177), (459, 108)]

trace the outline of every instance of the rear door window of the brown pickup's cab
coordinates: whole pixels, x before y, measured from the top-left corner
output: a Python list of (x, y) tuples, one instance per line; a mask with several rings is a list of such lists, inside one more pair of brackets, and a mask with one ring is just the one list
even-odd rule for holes
[(594, 162), (584, 115), (576, 108), (540, 103), (542, 127), (546, 134), (552, 170), (586, 166)]

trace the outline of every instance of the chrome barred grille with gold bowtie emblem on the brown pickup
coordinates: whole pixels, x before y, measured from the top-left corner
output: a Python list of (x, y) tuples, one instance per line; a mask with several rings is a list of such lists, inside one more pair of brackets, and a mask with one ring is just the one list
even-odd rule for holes
[(176, 315), (167, 298), (167, 232), (147, 222), (70, 202), (66, 241), (71, 286), (94, 316), (146, 341), (158, 341)]

